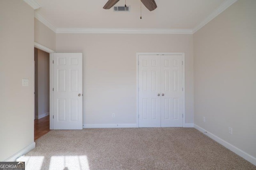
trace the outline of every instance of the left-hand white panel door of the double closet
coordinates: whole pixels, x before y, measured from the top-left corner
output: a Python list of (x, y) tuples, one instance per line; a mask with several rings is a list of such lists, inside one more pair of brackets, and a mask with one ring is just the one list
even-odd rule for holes
[(139, 55), (139, 127), (161, 127), (160, 56)]

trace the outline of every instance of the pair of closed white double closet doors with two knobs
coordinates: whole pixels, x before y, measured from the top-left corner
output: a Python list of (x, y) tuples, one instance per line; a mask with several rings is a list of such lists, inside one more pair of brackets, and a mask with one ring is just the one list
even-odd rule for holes
[(182, 127), (182, 55), (139, 55), (139, 127)]

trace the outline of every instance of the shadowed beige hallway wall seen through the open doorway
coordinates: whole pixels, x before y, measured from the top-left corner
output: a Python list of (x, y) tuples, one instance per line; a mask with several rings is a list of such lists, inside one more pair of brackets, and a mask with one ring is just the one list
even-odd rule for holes
[[(36, 119), (50, 111), (50, 54), (35, 48)], [(41, 116), (40, 116), (41, 115)]]

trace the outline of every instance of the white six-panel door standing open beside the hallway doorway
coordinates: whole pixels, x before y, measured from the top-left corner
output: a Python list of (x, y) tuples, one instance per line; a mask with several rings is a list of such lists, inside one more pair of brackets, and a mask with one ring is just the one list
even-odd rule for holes
[(82, 53), (54, 53), (54, 129), (82, 129)]

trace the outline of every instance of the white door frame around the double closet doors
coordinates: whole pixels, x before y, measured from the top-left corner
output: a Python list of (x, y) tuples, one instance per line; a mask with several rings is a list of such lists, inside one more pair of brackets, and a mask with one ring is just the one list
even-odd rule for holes
[(182, 118), (182, 127), (185, 127), (185, 53), (136, 53), (136, 120), (137, 127), (139, 127), (139, 55), (182, 55), (182, 109), (183, 109), (183, 118)]

